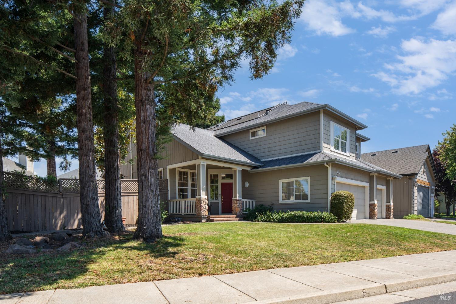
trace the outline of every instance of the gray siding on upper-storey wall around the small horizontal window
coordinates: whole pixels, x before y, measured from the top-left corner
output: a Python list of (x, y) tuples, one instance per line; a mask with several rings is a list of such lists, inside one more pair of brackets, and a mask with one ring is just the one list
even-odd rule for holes
[(320, 150), (320, 113), (265, 124), (266, 136), (250, 139), (249, 130), (222, 138), (261, 159)]

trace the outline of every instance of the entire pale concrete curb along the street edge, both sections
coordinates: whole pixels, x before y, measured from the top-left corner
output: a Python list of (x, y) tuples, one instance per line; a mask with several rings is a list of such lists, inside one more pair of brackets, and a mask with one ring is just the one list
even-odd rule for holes
[(363, 288), (342, 289), (338, 291), (319, 291), (315, 293), (295, 295), (292, 297), (247, 302), (245, 304), (330, 304), (347, 300), (368, 298), (380, 294), (391, 294), (398, 291), (452, 281), (456, 281), (456, 272), (388, 281), (388, 283), (372, 283)]

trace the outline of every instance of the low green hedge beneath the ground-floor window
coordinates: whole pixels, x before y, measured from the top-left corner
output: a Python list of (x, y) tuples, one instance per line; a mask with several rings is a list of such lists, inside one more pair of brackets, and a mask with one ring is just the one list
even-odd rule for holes
[(279, 211), (258, 214), (255, 222), (268, 223), (336, 223), (337, 217), (328, 212)]

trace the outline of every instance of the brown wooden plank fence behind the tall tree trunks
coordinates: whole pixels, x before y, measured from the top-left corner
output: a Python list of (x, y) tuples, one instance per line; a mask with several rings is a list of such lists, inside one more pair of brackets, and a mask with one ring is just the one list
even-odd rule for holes
[[(64, 184), (65, 181), (59, 180), (58, 185)], [(68, 183), (73, 186), (79, 185), (79, 180)], [(32, 185), (33, 183), (28, 184)], [(161, 181), (160, 185), (160, 201), (167, 201), (168, 191), (163, 189), (164, 185), (167, 186), (167, 182)], [(59, 188), (62, 190), (62, 186)], [(82, 227), (79, 189), (76, 191), (73, 187), (69, 191), (70, 188), (66, 188), (66, 192), (57, 192), (54, 189), (52, 189), (54, 191), (43, 191), (41, 189), (10, 187), (6, 189), (6, 216), (11, 231), (35, 232)], [(98, 204), (101, 219), (104, 219), (104, 201), (104, 180), (98, 180)], [(126, 217), (126, 224), (135, 224), (137, 221), (137, 180), (122, 180), (122, 217)]]

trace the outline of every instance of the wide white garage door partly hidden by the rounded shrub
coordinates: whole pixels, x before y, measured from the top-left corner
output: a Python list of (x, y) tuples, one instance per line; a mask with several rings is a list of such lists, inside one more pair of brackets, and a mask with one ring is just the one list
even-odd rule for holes
[(353, 220), (369, 218), (368, 185), (368, 183), (357, 180), (337, 178), (336, 191), (348, 191), (355, 196), (355, 206), (352, 213)]

